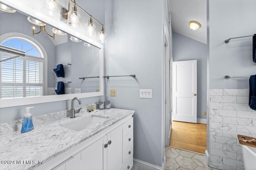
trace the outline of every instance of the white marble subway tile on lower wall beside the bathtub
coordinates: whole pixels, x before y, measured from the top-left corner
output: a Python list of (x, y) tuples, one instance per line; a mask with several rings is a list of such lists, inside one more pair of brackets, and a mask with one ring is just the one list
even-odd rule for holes
[(242, 170), (237, 135), (256, 137), (256, 111), (250, 109), (249, 89), (210, 90), (210, 166)]

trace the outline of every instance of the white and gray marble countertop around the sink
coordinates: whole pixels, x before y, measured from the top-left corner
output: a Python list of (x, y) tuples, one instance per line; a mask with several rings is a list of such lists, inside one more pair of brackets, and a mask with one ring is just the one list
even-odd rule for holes
[[(33, 160), (36, 163), (38, 163), (38, 161), (47, 162), (133, 113), (134, 111), (132, 110), (113, 108), (100, 110), (100, 112), (96, 113), (80, 113), (79, 115), (76, 115), (76, 118), (74, 119), (67, 117), (58, 121), (46, 123), (35, 127), (34, 130), (28, 133), (20, 133), (20, 131), (17, 131), (1, 135), (0, 169), (23, 170), (35, 168), (39, 165), (33, 164)], [(60, 126), (90, 115), (108, 117), (108, 119), (81, 131), (72, 131)], [(19, 160), (31, 160), (31, 163), (26, 164), (26, 162), (21, 162), (21, 164), (17, 164), (16, 161)], [(15, 164), (11, 164), (13, 163), (12, 161), (14, 161)]]

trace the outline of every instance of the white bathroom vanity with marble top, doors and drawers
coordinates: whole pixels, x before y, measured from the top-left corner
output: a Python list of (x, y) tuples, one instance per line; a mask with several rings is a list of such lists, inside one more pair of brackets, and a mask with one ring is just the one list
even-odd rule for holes
[[(123, 109), (80, 113), (28, 133), (2, 135), (0, 160), (9, 162), (0, 169), (129, 170), (133, 166), (133, 114)], [(100, 118), (85, 129), (71, 130), (70, 125), (86, 123), (91, 117)]]

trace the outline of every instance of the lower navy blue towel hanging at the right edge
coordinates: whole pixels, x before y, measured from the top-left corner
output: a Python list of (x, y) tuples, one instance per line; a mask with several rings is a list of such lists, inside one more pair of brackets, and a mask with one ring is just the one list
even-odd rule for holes
[(256, 110), (256, 75), (250, 76), (249, 79), (249, 106)]

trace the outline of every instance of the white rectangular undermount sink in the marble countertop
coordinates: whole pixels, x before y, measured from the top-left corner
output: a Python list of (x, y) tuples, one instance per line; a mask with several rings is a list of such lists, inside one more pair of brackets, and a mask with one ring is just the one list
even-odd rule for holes
[(99, 116), (92, 115), (92, 116), (84, 117), (83, 119), (72, 121), (70, 123), (60, 125), (60, 126), (65, 127), (67, 129), (71, 129), (73, 131), (81, 131), (83, 129), (86, 129), (89, 126), (95, 125), (96, 123), (105, 121), (107, 119), (108, 118), (106, 117), (99, 117)]

